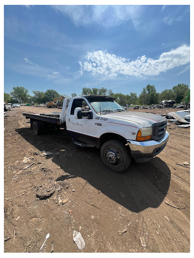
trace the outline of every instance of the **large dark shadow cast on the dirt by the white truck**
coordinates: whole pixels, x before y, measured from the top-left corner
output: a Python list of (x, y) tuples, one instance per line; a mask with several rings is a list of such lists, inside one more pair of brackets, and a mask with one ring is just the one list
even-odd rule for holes
[(159, 157), (146, 163), (131, 162), (123, 173), (106, 168), (97, 148), (81, 148), (73, 144), (65, 130), (55, 134), (35, 136), (30, 128), (16, 129), (26, 141), (39, 151), (51, 151), (52, 162), (64, 170), (64, 175), (54, 178), (68, 180), (66, 173), (80, 177), (132, 212), (141, 212), (148, 207), (157, 208), (164, 200), (170, 185), (171, 172)]

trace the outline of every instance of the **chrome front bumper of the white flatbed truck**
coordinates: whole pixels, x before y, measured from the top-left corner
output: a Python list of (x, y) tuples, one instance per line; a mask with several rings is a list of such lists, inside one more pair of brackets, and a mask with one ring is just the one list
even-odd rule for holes
[(133, 141), (127, 140), (130, 147), (131, 156), (134, 157), (136, 162), (146, 162), (152, 157), (158, 155), (164, 147), (169, 138), (169, 133), (166, 132), (165, 136), (160, 141), (147, 140), (147, 141)]

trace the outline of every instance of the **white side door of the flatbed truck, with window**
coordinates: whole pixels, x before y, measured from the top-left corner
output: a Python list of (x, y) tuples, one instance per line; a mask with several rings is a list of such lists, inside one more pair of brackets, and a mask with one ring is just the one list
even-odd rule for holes
[[(74, 110), (76, 107), (81, 107), (82, 111), (89, 111), (93, 109), (87, 100), (76, 98), (73, 100), (71, 108), (67, 111), (66, 129), (70, 137), (85, 144), (93, 144), (94, 137), (94, 122), (93, 119), (82, 118), (76, 119), (74, 117)], [(93, 113), (94, 116), (94, 113)]]

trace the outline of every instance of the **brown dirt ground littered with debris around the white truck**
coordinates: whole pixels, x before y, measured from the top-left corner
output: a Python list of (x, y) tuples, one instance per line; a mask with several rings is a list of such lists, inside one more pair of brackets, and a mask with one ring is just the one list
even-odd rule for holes
[[(178, 165), (190, 162), (190, 128), (170, 123), (157, 157), (115, 173), (98, 149), (78, 147), (65, 130), (33, 135), (22, 112), (49, 111), (61, 109), (21, 106), (4, 118), (4, 252), (190, 252), (190, 166)], [(53, 155), (41, 156), (44, 150)], [(55, 191), (38, 198), (44, 184)]]

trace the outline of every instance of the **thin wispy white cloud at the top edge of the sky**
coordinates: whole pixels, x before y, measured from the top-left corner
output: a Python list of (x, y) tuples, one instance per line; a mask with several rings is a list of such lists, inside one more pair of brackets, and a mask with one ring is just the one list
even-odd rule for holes
[(70, 17), (76, 26), (99, 24), (104, 27), (119, 25), (131, 20), (140, 23), (141, 5), (52, 5), (55, 10)]

